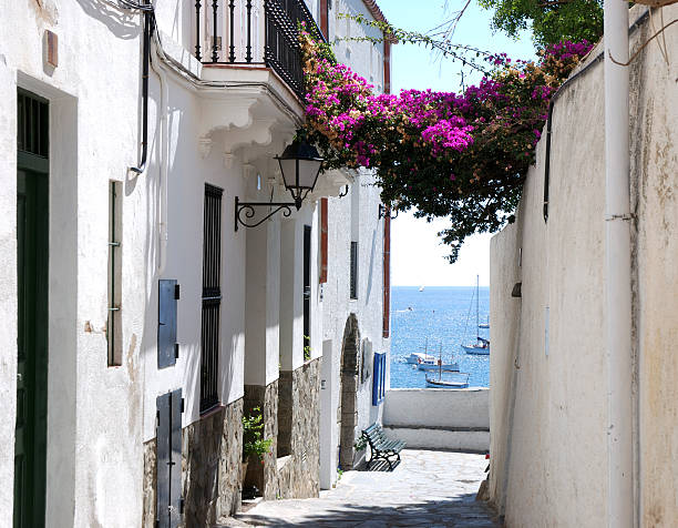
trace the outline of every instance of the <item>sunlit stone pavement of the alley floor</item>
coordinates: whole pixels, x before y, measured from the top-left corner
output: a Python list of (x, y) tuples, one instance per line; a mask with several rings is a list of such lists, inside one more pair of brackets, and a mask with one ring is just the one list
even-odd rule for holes
[[(499, 527), (475, 500), (482, 455), (405, 449), (393, 471), (347, 471), (315, 499), (263, 501), (230, 526)], [(228, 526), (228, 524), (224, 524)]]

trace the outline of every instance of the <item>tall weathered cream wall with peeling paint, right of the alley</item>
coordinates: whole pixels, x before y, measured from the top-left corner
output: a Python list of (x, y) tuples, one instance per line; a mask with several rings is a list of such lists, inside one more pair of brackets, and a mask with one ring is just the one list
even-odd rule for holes
[[(635, 21), (646, 8), (634, 8)], [(664, 8), (672, 20), (678, 8)], [(654, 12), (657, 16), (657, 12)], [(653, 34), (649, 20), (631, 52)], [(678, 33), (630, 67), (634, 438), (639, 526), (678, 524)], [(662, 43), (662, 42), (661, 42)], [(598, 45), (592, 53), (602, 51)], [(490, 493), (506, 526), (607, 524), (603, 64), (555, 104), (548, 222), (545, 142), (516, 223), (491, 243)], [(522, 297), (513, 297), (516, 283)]]

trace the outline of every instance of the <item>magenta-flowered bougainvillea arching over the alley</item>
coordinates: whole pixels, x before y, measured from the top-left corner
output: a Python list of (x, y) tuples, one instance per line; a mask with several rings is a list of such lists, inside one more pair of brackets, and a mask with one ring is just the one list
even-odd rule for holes
[(301, 31), (306, 79), (306, 128), (326, 169), (373, 167), (381, 197), (415, 215), (445, 216), (451, 245), (510, 221), (548, 100), (587, 42), (563, 42), (537, 63), (487, 55), (490, 73), (463, 93), (407, 90), (377, 94), (373, 87), (333, 62), (326, 44)]

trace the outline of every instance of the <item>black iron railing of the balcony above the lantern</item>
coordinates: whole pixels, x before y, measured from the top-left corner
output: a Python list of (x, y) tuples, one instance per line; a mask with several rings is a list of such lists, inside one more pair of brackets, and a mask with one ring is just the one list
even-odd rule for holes
[(304, 97), (299, 23), (323, 39), (304, 0), (196, 0), (195, 16), (201, 62), (266, 65)]

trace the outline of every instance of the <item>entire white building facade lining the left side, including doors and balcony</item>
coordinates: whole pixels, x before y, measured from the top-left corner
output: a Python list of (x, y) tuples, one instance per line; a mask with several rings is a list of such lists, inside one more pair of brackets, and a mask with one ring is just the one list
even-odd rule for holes
[[(275, 156), (304, 120), (297, 22), (333, 41), (371, 31), (340, 12), (383, 18), (328, 3), (4, 7), (0, 527), (212, 526), (239, 508), (254, 407), (265, 498), (360, 463), (389, 353), (373, 176), (321, 174), (258, 226), (271, 209), (236, 205), (290, 202)], [(386, 90), (389, 45), (338, 60)]]

